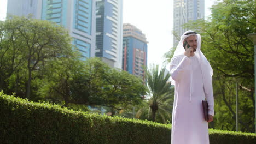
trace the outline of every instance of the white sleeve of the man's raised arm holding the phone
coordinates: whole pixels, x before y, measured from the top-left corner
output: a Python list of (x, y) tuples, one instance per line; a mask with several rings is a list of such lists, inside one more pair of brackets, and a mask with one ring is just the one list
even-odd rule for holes
[(171, 65), (170, 65), (171, 78), (174, 81), (178, 81), (183, 71), (185, 69), (190, 69), (190, 63), (191, 63), (191, 59), (189, 59), (189, 57), (187, 56), (184, 56), (180, 62), (178, 57), (173, 57), (171, 59)]

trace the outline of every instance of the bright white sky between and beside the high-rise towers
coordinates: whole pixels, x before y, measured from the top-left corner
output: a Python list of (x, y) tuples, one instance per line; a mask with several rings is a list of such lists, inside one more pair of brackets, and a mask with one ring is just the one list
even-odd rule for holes
[[(72, 1), (72, 0), (70, 0)], [(216, 0), (205, 0), (205, 17)], [(148, 66), (163, 65), (163, 55), (173, 43), (173, 0), (123, 0), (123, 23), (141, 29), (148, 43)], [(5, 20), (7, 0), (0, 0), (0, 20)]]

